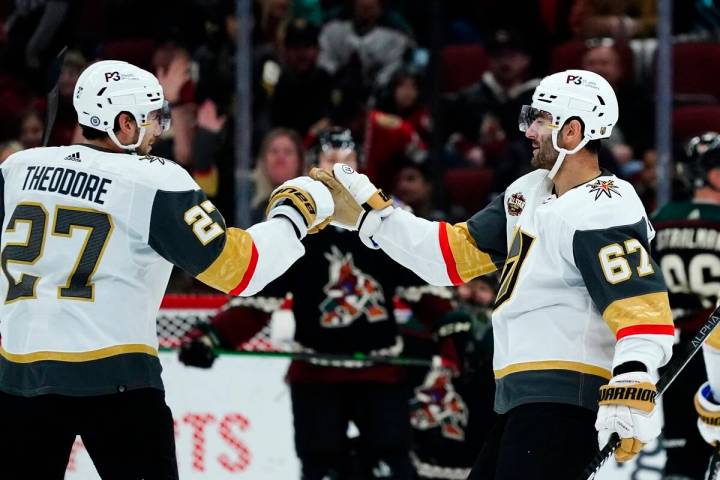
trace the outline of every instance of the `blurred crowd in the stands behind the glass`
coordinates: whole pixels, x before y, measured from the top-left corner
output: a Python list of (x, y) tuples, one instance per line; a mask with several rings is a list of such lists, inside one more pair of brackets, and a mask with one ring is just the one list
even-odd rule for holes
[[(83, 68), (129, 61), (156, 73), (172, 105), (172, 129), (154, 153), (187, 168), (235, 218), (242, 23), (235, 3), (4, 2), (0, 160), (41, 144), (47, 71), (68, 45), (50, 145), (82, 141), (72, 92)], [(678, 143), (720, 123), (716, 3), (674, 5)], [(620, 122), (601, 163), (656, 207), (654, 0), (254, 0), (252, 7), (253, 221), (272, 188), (305, 171), (306, 152), (330, 126), (352, 130), (376, 184), (423, 216), (463, 220), (531, 168), (518, 112), (544, 75), (565, 68), (595, 71), (615, 87)]]

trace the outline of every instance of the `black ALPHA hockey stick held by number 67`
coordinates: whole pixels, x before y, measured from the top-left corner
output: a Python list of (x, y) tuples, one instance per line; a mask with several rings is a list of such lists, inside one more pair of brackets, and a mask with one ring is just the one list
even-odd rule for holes
[[(679, 357), (675, 357), (670, 362), (670, 365), (668, 365), (665, 373), (660, 377), (660, 380), (658, 380), (657, 384), (655, 384), (655, 388), (658, 392), (657, 397), (655, 397), (656, 400), (660, 398), (660, 396), (662, 396), (663, 392), (667, 390), (670, 384), (675, 380), (675, 378), (677, 378), (680, 372), (682, 372), (683, 368), (685, 368), (685, 366), (690, 362), (690, 360), (692, 360), (692, 357), (695, 356), (698, 350), (700, 350), (703, 342), (710, 335), (710, 332), (713, 331), (713, 329), (718, 323), (720, 323), (720, 306), (717, 307), (713, 311), (713, 313), (710, 314), (710, 317), (708, 317), (705, 325), (703, 325), (692, 338), (692, 340), (690, 340), (690, 345), (688, 345), (683, 354)], [(608, 441), (607, 445), (605, 445), (605, 447), (600, 450), (597, 455), (595, 455), (595, 458), (593, 458), (592, 461), (588, 464), (588, 466), (585, 467), (585, 470), (583, 470), (582, 474), (580, 475), (580, 477), (578, 477), (578, 479), (590, 480), (592, 478), (595, 478), (597, 472), (600, 470), (603, 464), (605, 464), (607, 459), (610, 458), (613, 453), (615, 453), (615, 450), (617, 450), (619, 445), (620, 438), (618, 437), (617, 433), (613, 433), (610, 436), (610, 440)]]

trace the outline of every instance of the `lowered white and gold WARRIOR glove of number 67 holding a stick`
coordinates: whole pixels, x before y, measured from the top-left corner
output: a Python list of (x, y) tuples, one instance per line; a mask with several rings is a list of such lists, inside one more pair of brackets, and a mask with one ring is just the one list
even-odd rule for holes
[(600, 409), (595, 428), (603, 448), (617, 433), (620, 446), (615, 459), (622, 463), (634, 457), (646, 443), (660, 435), (660, 416), (655, 408), (657, 390), (646, 372), (614, 376), (600, 387)]

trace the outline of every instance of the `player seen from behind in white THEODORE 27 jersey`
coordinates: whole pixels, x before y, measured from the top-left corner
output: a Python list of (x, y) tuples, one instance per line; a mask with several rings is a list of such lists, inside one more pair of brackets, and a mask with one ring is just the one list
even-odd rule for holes
[(0, 477), (62, 479), (80, 435), (104, 479), (177, 478), (155, 325), (172, 266), (251, 295), (303, 255), (332, 197), (293, 179), (267, 221), (227, 227), (183, 168), (149, 154), (169, 123), (151, 73), (95, 63), (73, 100), (86, 144), (0, 167)]

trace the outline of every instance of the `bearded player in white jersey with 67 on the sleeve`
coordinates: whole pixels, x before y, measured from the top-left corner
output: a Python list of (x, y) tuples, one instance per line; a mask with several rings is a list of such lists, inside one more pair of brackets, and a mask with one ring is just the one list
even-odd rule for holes
[(493, 313), (501, 415), (470, 479), (572, 479), (598, 439), (618, 433), (625, 461), (660, 433), (654, 375), (674, 327), (643, 205), (598, 166), (617, 119), (599, 75), (546, 77), (520, 117), (538, 169), (457, 225), (393, 209), (347, 166), (311, 173), (333, 192), (336, 218), (350, 217), (367, 244), (432, 284), (502, 268)]

